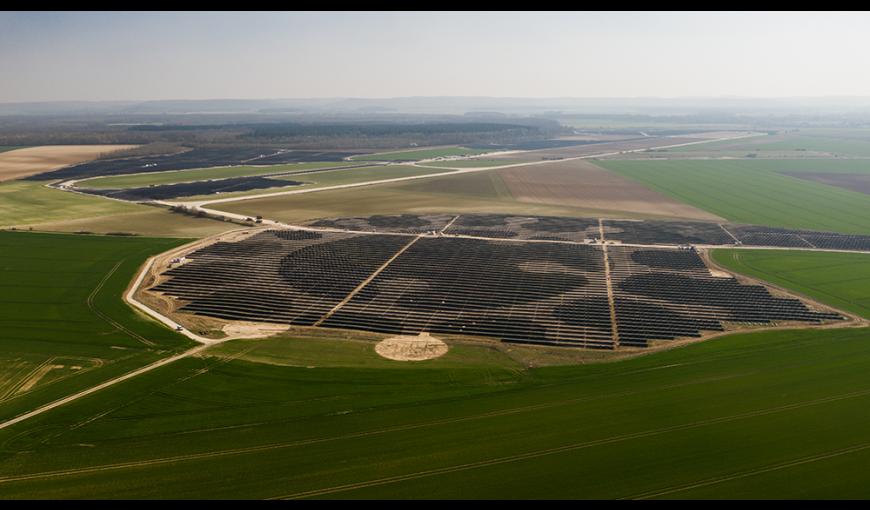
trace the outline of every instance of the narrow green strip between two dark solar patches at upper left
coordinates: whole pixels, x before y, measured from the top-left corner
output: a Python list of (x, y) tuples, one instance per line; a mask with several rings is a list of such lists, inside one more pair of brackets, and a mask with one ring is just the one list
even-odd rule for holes
[(158, 184), (175, 184), (179, 182), (204, 181), (208, 179), (225, 179), (227, 177), (251, 177), (278, 172), (296, 172), (315, 168), (341, 167), (352, 163), (326, 161), (318, 163), (294, 163), (272, 166), (223, 166), (212, 168), (196, 168), (192, 170), (177, 170), (169, 172), (151, 172), (133, 175), (113, 175), (79, 181), (80, 188), (92, 189), (127, 189), (140, 188)]

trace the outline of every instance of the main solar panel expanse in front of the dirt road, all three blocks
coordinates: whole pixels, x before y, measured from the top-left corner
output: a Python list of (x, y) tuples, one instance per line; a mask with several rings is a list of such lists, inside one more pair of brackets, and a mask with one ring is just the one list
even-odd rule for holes
[(601, 246), (408, 234), (261, 232), (191, 253), (154, 290), (227, 320), (599, 349), (840, 318), (716, 277), (694, 250), (607, 251), (612, 307)]

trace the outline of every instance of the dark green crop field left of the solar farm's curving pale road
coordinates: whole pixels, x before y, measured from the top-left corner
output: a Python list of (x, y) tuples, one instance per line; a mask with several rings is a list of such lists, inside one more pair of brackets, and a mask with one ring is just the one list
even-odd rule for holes
[(146, 257), (182, 242), (0, 232), (0, 416), (188, 346), (121, 301)]

